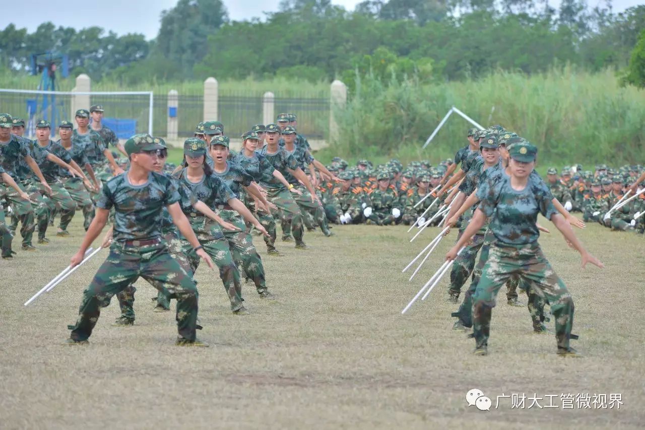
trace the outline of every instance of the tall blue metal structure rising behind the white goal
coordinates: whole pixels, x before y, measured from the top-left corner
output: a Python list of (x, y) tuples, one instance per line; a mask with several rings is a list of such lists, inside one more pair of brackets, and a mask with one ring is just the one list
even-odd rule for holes
[[(41, 73), (41, 83), (38, 86), (38, 90), (56, 91), (56, 71), (59, 65), (61, 66), (61, 75), (68, 77), (70, 70), (67, 54), (47, 51), (42, 54), (31, 55), (32, 75)], [(37, 94), (35, 102), (30, 100), (27, 104), (29, 121), (34, 121), (34, 116), (39, 114), (42, 119), (56, 124), (58, 122), (57, 118), (59, 120), (64, 118), (64, 115), (61, 115), (62, 107), (63, 103), (57, 103), (55, 94)]]

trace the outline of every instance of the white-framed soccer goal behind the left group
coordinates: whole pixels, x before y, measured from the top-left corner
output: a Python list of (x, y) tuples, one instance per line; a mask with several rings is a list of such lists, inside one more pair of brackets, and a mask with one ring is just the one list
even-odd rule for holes
[(52, 122), (52, 133), (55, 133), (59, 122), (74, 123), (77, 110), (90, 110), (90, 106), (94, 104), (103, 108), (103, 125), (114, 130), (119, 139), (128, 139), (135, 133), (153, 135), (152, 92), (65, 92), (0, 88), (0, 112), (25, 119), (25, 134), (30, 137), (35, 135), (37, 121), (45, 119)]

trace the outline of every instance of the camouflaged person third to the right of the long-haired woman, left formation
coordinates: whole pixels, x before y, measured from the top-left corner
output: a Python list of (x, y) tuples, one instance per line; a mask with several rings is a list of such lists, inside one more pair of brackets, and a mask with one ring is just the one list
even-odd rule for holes
[[(298, 204), (293, 200), (289, 190), (291, 188), (295, 188), (295, 184), (293, 182), (297, 182), (298, 180), (303, 181), (311, 196), (312, 204), (317, 201), (315, 200), (315, 191), (313, 190), (311, 182), (309, 182), (304, 174), (304, 171), (301, 170), (298, 165), (295, 157), (279, 146), (278, 139), (280, 137), (280, 133), (281, 131), (277, 124), (268, 124), (266, 126), (265, 137), (267, 144), (262, 148), (260, 154), (268, 159), (275, 170), (282, 173), (284, 178), (289, 181), (289, 186), (285, 187), (282, 182), (277, 179), (268, 177), (265, 177), (260, 185), (264, 190), (266, 190), (268, 200), (275, 204), (275, 206), (283, 211), (285, 216), (291, 220), (293, 238), (295, 239), (295, 248), (308, 249), (307, 244), (304, 243), (303, 240), (303, 214), (301, 213)], [(272, 243), (275, 243), (275, 237), (272, 237)]]

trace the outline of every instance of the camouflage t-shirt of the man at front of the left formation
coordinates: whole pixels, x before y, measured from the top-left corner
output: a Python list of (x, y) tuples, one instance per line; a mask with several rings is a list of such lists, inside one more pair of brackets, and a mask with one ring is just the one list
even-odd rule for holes
[[(128, 170), (129, 171), (129, 170)], [(97, 208), (114, 208), (114, 240), (149, 240), (161, 237), (163, 208), (179, 202), (177, 187), (153, 171), (148, 182), (132, 185), (128, 171), (106, 182)]]

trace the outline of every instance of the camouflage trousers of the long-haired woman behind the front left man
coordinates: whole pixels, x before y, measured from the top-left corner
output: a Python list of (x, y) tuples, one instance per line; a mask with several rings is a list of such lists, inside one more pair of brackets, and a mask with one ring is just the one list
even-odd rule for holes
[[(199, 236), (197, 237), (199, 239)], [(192, 245), (186, 239), (181, 239), (182, 252), (188, 257), (188, 273), (195, 275), (197, 267), (199, 267), (199, 255), (193, 251)], [(199, 244), (203, 246), (204, 251), (213, 260), (213, 263), (219, 268), (219, 277), (221, 278), (226, 295), (231, 302), (231, 310), (237, 311), (242, 308), (242, 284), (240, 282), (240, 273), (233, 262), (233, 256), (228, 248), (228, 240), (224, 237), (214, 240), (199, 240)]]

